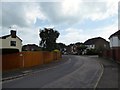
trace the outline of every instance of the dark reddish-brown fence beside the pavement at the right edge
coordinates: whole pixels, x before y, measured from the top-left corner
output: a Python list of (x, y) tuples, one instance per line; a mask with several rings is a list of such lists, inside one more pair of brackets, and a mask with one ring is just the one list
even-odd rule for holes
[(106, 50), (103, 52), (102, 56), (120, 62), (120, 48)]

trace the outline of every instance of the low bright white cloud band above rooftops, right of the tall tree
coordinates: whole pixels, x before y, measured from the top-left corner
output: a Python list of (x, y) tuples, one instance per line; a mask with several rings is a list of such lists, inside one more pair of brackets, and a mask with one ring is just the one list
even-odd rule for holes
[(63, 42), (67, 45), (76, 42), (85, 42), (87, 39), (94, 37), (102, 37), (109, 41), (109, 36), (118, 30), (118, 23), (115, 22), (113, 25), (108, 25), (101, 28), (92, 30), (83, 30), (76, 28), (67, 28), (64, 35), (60, 35), (57, 42)]

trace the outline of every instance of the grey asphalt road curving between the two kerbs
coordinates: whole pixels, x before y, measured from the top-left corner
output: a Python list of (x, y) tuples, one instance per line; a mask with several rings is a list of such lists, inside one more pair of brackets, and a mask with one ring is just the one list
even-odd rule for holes
[(66, 62), (4, 82), (3, 88), (96, 88), (102, 65), (85, 56), (65, 55)]

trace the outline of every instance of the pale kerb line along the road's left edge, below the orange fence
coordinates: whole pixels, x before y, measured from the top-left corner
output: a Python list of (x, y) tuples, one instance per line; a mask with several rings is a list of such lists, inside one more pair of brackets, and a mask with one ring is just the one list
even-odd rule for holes
[(33, 72), (29, 72), (29, 73), (24, 73), (24, 74), (21, 74), (21, 75), (18, 75), (18, 76), (13, 76), (13, 77), (5, 78), (5, 79), (2, 81), (2, 83), (7, 83), (7, 82), (10, 82), (10, 81), (18, 80), (18, 79), (20, 79), (20, 78), (23, 78), (24, 76), (31, 75), (31, 74), (35, 74), (35, 73), (38, 73), (38, 72), (41, 72), (41, 71), (46, 71), (46, 70), (54, 69), (54, 68), (57, 68), (57, 67), (59, 67), (59, 66), (61, 66), (61, 65), (69, 64), (70, 62), (71, 62), (71, 58), (69, 58), (68, 61), (66, 61), (65, 63), (60, 64), (60, 65), (58, 65), (58, 66), (50, 67), (50, 68), (43, 69), (43, 70), (33, 71)]

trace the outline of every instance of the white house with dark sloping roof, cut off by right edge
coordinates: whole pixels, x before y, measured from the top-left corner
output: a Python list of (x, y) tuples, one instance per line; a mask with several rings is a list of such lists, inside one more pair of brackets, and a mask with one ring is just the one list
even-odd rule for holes
[(110, 48), (120, 47), (120, 30), (112, 34), (110, 37)]

